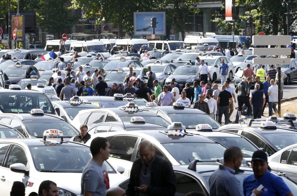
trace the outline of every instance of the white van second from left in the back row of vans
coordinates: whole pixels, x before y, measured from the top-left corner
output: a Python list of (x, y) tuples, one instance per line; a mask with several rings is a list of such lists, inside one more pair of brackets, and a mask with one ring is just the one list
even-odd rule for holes
[(103, 42), (98, 40), (72, 42), (70, 45), (70, 51), (73, 50), (73, 47), (75, 47), (78, 52), (102, 53), (104, 58), (108, 58), (110, 56)]

